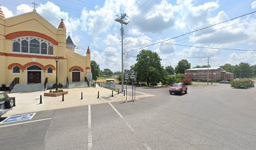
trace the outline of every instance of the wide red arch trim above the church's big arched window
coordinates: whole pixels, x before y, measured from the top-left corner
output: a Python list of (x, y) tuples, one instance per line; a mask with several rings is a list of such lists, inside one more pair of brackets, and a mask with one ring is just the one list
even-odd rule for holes
[(40, 32), (34, 32), (34, 31), (18, 31), (18, 32), (12, 32), (10, 34), (6, 35), (6, 39), (15, 39), (17, 37), (21, 36), (36, 36), (40, 37), (42, 39), (46, 39), (47, 41), (50, 41), (54, 45), (58, 45), (58, 42), (51, 38), (50, 36), (46, 36), (45, 34), (41, 34)]

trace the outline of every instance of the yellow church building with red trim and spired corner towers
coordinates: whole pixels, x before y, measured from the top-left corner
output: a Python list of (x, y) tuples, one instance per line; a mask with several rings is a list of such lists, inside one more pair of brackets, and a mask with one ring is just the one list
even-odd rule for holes
[[(58, 66), (56, 66), (58, 64)], [(5, 18), (0, 8), (0, 86), (85, 82), (90, 69), (90, 49), (86, 56), (75, 53), (70, 36), (60, 19), (58, 28), (34, 9)], [(46, 87), (47, 88), (47, 87)]]

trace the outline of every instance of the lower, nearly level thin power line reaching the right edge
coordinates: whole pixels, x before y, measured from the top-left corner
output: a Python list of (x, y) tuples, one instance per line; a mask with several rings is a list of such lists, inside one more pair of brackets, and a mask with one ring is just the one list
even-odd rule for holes
[[(125, 34), (126, 36), (131, 36), (129, 34)], [(135, 38), (138, 38), (138, 39), (144, 39), (142, 37), (136, 37), (136, 36), (131, 36), (131, 37), (135, 37)], [(154, 40), (151, 40), (151, 39), (144, 39), (144, 40), (147, 40), (147, 41), (154, 41)], [(157, 41), (154, 41), (154, 42), (157, 42)], [(231, 50), (231, 51), (256, 51), (256, 49), (234, 49), (234, 48), (220, 48), (220, 47), (204, 47), (204, 46), (189, 46), (189, 45), (183, 45), (183, 44), (174, 44), (173, 42), (164, 42), (164, 44), (162, 44), (161, 46), (163, 45), (166, 45), (166, 44), (171, 44), (171, 45), (175, 45), (175, 46), (184, 46), (184, 47), (196, 47), (196, 48), (205, 48), (205, 49), (220, 49), (220, 50)]]

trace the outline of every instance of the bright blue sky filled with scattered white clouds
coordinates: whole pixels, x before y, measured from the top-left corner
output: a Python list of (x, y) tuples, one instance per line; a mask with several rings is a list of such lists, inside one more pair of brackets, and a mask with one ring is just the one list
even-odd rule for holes
[[(33, 10), (30, 0), (1, 0), (6, 17), (13, 17)], [(207, 64), (211, 67), (225, 63), (256, 64), (256, 13), (234, 19), (186, 36), (180, 36), (202, 27), (256, 11), (256, 1), (195, 1), (195, 0), (35, 0), (36, 12), (58, 27), (60, 19), (77, 46), (75, 51), (85, 56), (90, 46), (91, 60), (100, 69), (121, 71), (120, 23), (115, 19), (126, 13), (129, 22), (124, 25), (124, 69), (136, 63), (141, 49), (159, 54), (163, 66), (173, 66), (187, 59), (193, 66)], [(154, 44), (149, 46), (150, 44)], [(176, 45), (173, 45), (176, 44)], [(200, 47), (246, 49), (234, 51)], [(147, 47), (145, 47), (147, 46)], [(132, 51), (135, 50), (136, 51)], [(253, 51), (255, 50), (255, 51)], [(129, 52), (131, 51), (131, 52)]]

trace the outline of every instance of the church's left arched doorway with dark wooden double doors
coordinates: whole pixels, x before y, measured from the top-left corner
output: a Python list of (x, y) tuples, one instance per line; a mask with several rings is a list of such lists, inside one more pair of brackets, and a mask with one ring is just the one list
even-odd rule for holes
[(41, 68), (33, 65), (27, 68), (28, 84), (41, 83)]

